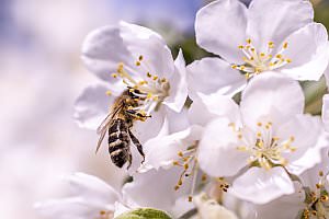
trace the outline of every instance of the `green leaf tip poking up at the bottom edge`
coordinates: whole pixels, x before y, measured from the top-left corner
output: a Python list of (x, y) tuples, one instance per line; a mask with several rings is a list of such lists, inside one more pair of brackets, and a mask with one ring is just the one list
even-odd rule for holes
[(172, 219), (166, 212), (152, 208), (137, 208), (132, 211), (124, 212), (115, 219)]

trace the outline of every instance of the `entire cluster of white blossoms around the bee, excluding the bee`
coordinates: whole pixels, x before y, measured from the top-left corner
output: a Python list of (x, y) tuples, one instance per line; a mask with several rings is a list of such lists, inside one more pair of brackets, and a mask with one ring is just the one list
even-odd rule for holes
[[(326, 27), (306, 0), (216, 0), (195, 21), (196, 43), (216, 56), (185, 65), (154, 31), (120, 22), (90, 33), (82, 60), (102, 81), (75, 117), (97, 129), (125, 91), (139, 96), (132, 182), (115, 191), (69, 177), (73, 195), (39, 203), (54, 218), (115, 218), (151, 207), (174, 218), (329, 218), (329, 96), (322, 119), (304, 113), (300, 81), (329, 61)], [(327, 80), (329, 81), (329, 80)], [(328, 82), (329, 85), (329, 82)], [(131, 91), (132, 92), (132, 91)]]

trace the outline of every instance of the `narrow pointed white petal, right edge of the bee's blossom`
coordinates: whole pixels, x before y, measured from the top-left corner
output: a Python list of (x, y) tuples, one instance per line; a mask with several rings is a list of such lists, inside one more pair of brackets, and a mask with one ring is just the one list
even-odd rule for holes
[(183, 53), (180, 49), (174, 61), (175, 71), (170, 79), (170, 94), (163, 104), (169, 108), (181, 112), (188, 97), (186, 67)]

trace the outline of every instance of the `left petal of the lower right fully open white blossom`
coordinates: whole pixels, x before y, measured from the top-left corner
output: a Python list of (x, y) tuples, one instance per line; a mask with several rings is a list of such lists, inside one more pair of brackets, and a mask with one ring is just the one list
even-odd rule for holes
[(226, 118), (209, 123), (198, 146), (200, 168), (212, 176), (231, 176), (247, 165), (248, 154), (238, 151), (237, 134)]

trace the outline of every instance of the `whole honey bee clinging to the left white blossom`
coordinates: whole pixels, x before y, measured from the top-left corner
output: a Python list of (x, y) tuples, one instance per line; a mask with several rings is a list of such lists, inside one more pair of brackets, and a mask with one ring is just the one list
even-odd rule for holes
[(127, 169), (132, 165), (131, 141), (137, 147), (138, 152), (145, 160), (143, 146), (139, 140), (133, 135), (131, 128), (135, 120), (146, 120), (148, 115), (145, 115), (136, 110), (140, 105), (140, 101), (145, 100), (145, 95), (137, 89), (128, 88), (114, 102), (110, 114), (101, 123), (98, 128), (100, 139), (98, 141), (97, 150), (109, 132), (109, 152), (112, 162), (122, 168), (128, 162)]

